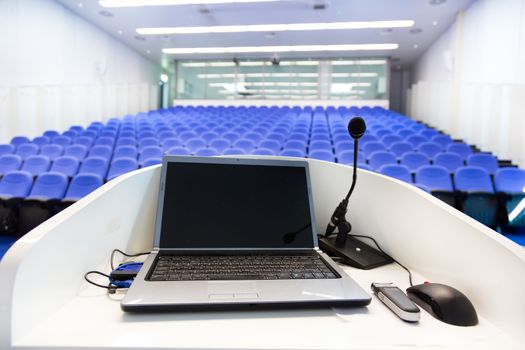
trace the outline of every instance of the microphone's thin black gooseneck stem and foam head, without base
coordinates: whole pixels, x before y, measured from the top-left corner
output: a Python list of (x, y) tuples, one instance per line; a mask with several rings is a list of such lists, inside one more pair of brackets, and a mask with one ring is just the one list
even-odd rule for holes
[(348, 123), (348, 133), (354, 139), (354, 172), (352, 176), (352, 186), (350, 187), (350, 191), (348, 191), (345, 199), (339, 203), (332, 214), (325, 233), (325, 237), (329, 237), (337, 228), (337, 241), (340, 243), (346, 241), (348, 233), (352, 230), (352, 225), (346, 221), (345, 215), (348, 208), (348, 200), (352, 195), (352, 192), (354, 192), (355, 184), (357, 182), (357, 152), (359, 150), (358, 140), (365, 134), (365, 131), (366, 123), (361, 117), (352, 118)]

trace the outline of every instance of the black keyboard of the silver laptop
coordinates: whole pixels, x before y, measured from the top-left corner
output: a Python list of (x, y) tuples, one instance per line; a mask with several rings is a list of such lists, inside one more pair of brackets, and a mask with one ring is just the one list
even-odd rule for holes
[(339, 278), (318, 255), (159, 256), (150, 281)]

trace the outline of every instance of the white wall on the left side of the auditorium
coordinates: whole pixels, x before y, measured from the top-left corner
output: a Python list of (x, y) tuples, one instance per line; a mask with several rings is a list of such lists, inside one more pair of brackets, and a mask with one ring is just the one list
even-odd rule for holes
[(0, 143), (154, 109), (160, 70), (52, 0), (0, 0)]

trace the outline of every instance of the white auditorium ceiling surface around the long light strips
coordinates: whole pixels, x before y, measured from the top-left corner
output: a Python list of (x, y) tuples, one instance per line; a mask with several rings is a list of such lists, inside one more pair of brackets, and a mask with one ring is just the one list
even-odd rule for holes
[[(266, 3), (186, 5), (164, 7), (103, 8), (96, 0), (57, 0), (87, 21), (102, 28), (151, 60), (203, 58), (270, 58), (271, 54), (175, 56), (162, 53), (167, 47), (276, 46), (327, 44), (397, 43), (393, 51), (290, 53), (280, 57), (355, 57), (382, 56), (394, 59), (395, 67), (407, 67), (454, 21), (455, 15), (475, 0), (448, 0), (431, 5), (431, 0), (281, 0)], [(314, 10), (314, 3), (325, 9)], [(111, 17), (102, 16), (108, 11)], [(284, 24), (310, 22), (414, 20), (412, 28), (331, 30), (308, 32), (185, 34), (145, 36), (137, 40), (136, 28), (174, 26), (215, 26), (245, 24)], [(422, 32), (411, 34), (410, 29)]]

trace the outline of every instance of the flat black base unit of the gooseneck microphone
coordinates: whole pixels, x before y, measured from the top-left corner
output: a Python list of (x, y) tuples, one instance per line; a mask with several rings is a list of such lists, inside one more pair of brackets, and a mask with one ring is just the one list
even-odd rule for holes
[(340, 258), (342, 264), (362, 270), (394, 262), (389, 256), (352, 236), (348, 236), (344, 242), (338, 241), (336, 237), (320, 238), (319, 248), (331, 257)]

